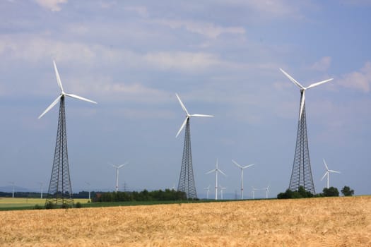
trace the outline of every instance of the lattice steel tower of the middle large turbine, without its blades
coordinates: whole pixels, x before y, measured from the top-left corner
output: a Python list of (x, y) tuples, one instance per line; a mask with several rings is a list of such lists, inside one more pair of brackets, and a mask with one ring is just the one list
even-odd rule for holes
[(187, 198), (197, 198), (192, 167), (191, 128), (189, 127), (189, 119), (187, 119), (185, 127), (182, 167), (180, 168), (178, 191), (184, 191)]

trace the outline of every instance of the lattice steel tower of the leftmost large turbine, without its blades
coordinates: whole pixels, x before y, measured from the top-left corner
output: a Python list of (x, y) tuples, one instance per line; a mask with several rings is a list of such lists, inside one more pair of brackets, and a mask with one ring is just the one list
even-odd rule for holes
[(46, 203), (55, 205), (73, 204), (71, 179), (69, 176), (64, 96), (61, 97), (59, 103), (57, 141), (55, 143), (52, 176), (50, 177)]

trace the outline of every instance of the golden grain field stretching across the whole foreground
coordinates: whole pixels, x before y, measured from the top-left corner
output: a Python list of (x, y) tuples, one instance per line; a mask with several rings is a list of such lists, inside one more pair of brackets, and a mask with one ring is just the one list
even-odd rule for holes
[(371, 196), (0, 212), (0, 246), (371, 246)]

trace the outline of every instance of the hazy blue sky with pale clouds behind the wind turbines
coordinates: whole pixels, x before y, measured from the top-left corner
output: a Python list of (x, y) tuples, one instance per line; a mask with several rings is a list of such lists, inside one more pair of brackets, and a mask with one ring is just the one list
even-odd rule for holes
[[(316, 192), (371, 194), (371, 1), (0, 1), (0, 187), (49, 185), (58, 106), (66, 99), (73, 192), (177, 188), (191, 114), (196, 190), (215, 184), (245, 198), (288, 188), (302, 85)], [(264, 197), (258, 191), (255, 197)], [(210, 197), (214, 197), (211, 190)]]

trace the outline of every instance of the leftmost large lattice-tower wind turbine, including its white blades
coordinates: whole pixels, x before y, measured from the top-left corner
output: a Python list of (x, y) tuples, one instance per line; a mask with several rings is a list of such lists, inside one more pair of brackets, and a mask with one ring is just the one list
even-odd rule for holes
[[(75, 98), (77, 100), (83, 100), (86, 102), (91, 102), (97, 104), (93, 100), (88, 100), (84, 97), (73, 95), (64, 92), (63, 86), (61, 84), (61, 78), (58, 73), (57, 65), (55, 61), (54, 64), (54, 71), (55, 76), (57, 77), (57, 84), (59, 89), (61, 90), (59, 96), (57, 97), (52, 104), (45, 109), (44, 112), (39, 116), (39, 119), (44, 116), (50, 109), (52, 109), (58, 102), (59, 102), (59, 119), (58, 119), (58, 128), (57, 128), (57, 141), (55, 144), (55, 151), (54, 151), (54, 161), (53, 161), (53, 168), (52, 168), (52, 176), (50, 178), (49, 183), (49, 190), (48, 195), (50, 196), (49, 200), (47, 199), (47, 203), (54, 203), (55, 205), (61, 204), (69, 204), (73, 203), (72, 198), (72, 188), (71, 188), (71, 179), (69, 174), (69, 159), (67, 153), (67, 135), (66, 135), (66, 111), (64, 107), (64, 98), (66, 96)], [(54, 199), (52, 198), (54, 196)]]

